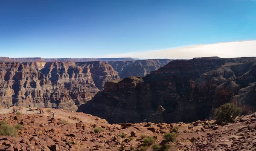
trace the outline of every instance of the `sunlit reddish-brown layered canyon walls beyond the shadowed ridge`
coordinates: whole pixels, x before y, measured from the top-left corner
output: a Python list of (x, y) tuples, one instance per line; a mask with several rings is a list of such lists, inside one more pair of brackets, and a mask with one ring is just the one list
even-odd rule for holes
[[(35, 106), (76, 111), (102, 91), (107, 81), (145, 76), (169, 59), (76, 62), (33, 61), (37, 58), (0, 60), (0, 106)], [(75, 62), (73, 62), (75, 60)], [(22, 62), (19, 62), (22, 61)]]

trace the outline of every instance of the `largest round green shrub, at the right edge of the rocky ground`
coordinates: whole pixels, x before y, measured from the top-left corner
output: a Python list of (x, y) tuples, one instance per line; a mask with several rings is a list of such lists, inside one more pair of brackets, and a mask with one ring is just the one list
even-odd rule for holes
[(218, 122), (233, 122), (242, 112), (242, 109), (233, 103), (226, 103), (216, 109), (215, 120)]

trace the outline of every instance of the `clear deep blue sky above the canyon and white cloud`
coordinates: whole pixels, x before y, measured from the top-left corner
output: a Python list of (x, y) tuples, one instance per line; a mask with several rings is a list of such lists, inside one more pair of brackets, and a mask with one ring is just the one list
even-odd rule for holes
[(143, 58), (134, 52), (255, 39), (254, 0), (0, 0), (5, 57)]

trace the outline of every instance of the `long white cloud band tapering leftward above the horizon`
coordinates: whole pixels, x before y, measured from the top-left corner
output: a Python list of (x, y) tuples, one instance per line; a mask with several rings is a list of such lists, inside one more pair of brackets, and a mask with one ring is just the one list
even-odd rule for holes
[(132, 58), (170, 58), (170, 59), (191, 59), (194, 57), (211, 57), (218, 56), (221, 58), (230, 57), (255, 57), (256, 40), (214, 43), (183, 46), (178, 48), (168, 48), (151, 51), (137, 51), (121, 54), (108, 54), (104, 57), (132, 57)]

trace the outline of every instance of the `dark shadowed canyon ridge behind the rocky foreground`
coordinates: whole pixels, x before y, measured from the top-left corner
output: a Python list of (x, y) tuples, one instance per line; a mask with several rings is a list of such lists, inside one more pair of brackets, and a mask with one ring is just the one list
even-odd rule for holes
[[(251, 114), (255, 76), (255, 57), (174, 60), (145, 77), (105, 83), (104, 91), (79, 111), (110, 123), (192, 122), (211, 117), (215, 108), (232, 100)], [(163, 115), (155, 114), (159, 105)]]

